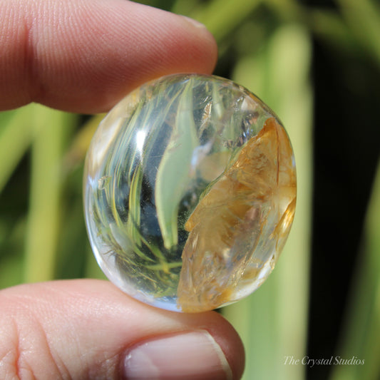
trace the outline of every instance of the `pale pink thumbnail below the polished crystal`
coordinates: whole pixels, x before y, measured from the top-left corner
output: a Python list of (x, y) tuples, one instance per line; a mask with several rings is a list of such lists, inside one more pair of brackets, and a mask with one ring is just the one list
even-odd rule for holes
[(128, 380), (231, 380), (232, 372), (219, 344), (208, 332), (197, 331), (131, 347), (124, 376)]

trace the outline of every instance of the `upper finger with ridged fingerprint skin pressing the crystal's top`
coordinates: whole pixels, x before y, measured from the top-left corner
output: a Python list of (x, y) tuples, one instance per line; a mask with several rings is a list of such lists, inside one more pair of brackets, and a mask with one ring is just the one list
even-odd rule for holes
[(0, 109), (31, 101), (96, 113), (158, 76), (211, 73), (212, 36), (126, 0), (0, 0)]

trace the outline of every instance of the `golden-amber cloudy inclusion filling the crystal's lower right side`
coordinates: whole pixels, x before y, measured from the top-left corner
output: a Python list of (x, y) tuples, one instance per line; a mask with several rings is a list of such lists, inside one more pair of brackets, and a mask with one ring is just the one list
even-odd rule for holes
[(272, 267), (292, 224), (296, 177), (291, 163), (292, 147), (284, 129), (268, 118), (200, 200), (185, 224), (190, 234), (178, 284), (178, 304), (184, 312), (234, 302), (242, 284), (260, 285), (265, 262), (252, 255), (258, 245), (274, 243)]

